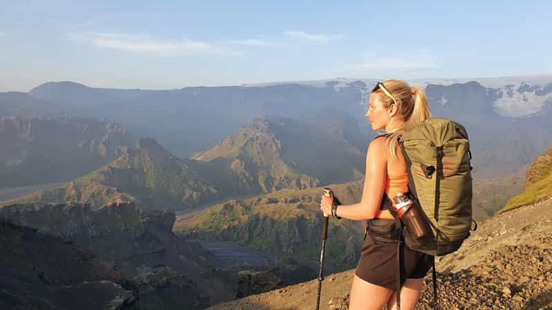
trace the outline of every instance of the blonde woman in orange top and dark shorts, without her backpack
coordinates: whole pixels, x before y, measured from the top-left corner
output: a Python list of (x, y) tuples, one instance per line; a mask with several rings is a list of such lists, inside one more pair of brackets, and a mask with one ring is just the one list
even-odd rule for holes
[[(395, 221), (388, 210), (381, 210), (383, 195), (389, 201), (408, 192), (407, 166), (398, 147), (406, 128), (431, 117), (422, 89), (411, 88), (400, 80), (378, 82), (371, 91), (366, 117), (374, 131), (387, 135), (374, 139), (366, 154), (366, 174), (359, 203), (334, 207), (335, 217), (352, 220)], [(320, 209), (332, 214), (332, 200), (322, 195)], [(392, 222), (391, 222), (392, 221)], [(396, 309), (397, 243), (376, 240), (367, 229), (360, 260), (351, 286), (349, 310)], [(414, 310), (421, 294), (423, 277), (432, 266), (432, 257), (400, 245), (401, 310)]]

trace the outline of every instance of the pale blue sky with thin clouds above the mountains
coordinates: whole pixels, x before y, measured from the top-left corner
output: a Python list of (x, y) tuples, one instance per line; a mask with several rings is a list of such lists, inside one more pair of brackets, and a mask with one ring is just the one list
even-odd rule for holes
[(0, 0), (0, 91), (552, 73), (551, 1), (342, 2)]

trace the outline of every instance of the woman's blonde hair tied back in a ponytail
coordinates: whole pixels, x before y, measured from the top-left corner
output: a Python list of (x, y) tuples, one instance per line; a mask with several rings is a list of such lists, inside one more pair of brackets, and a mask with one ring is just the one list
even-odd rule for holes
[(390, 98), (380, 88), (374, 91), (374, 93), (380, 94), (383, 107), (387, 108), (391, 104), (396, 104), (395, 115), (403, 116), (405, 120), (404, 125), (389, 134), (387, 140), (385, 140), (385, 147), (389, 150), (389, 154), (393, 159), (397, 159), (396, 148), (399, 136), (412, 125), (431, 118), (431, 111), (429, 105), (427, 105), (427, 97), (423, 89), (417, 87), (411, 88), (407, 82), (401, 80), (385, 80), (381, 84), (393, 97)]

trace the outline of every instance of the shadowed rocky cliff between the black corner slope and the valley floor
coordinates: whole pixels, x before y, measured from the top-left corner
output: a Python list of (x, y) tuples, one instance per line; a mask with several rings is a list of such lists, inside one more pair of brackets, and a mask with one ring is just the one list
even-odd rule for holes
[(97, 253), (129, 279), (145, 309), (201, 309), (235, 296), (234, 280), (216, 271), (212, 255), (172, 233), (174, 212), (145, 212), (133, 204), (99, 210), (26, 204), (1, 208), (0, 217)]

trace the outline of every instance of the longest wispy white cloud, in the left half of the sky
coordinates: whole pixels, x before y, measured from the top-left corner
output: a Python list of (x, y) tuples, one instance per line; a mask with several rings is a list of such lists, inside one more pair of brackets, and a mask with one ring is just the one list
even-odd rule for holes
[(163, 41), (122, 33), (72, 33), (69, 35), (77, 42), (84, 42), (100, 48), (111, 48), (138, 54), (156, 56), (186, 56), (199, 54), (231, 54), (220, 46), (206, 42), (182, 40)]

